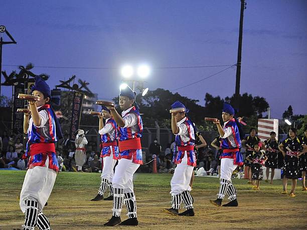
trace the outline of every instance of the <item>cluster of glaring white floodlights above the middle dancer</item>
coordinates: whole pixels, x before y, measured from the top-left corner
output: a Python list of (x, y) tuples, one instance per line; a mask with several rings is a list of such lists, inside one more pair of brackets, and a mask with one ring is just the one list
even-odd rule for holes
[[(135, 91), (135, 84), (138, 83), (138, 89), (142, 91), (142, 96), (148, 92), (148, 88), (143, 89), (144, 80), (150, 74), (150, 68), (147, 65), (139, 65), (136, 69), (136, 74), (133, 66), (124, 65), (120, 70), (121, 76), (124, 78), (123, 82), (131, 82), (132, 90)], [(138, 78), (135, 79), (135, 76)], [(131, 79), (132, 78), (132, 79)], [(122, 86), (122, 85), (121, 85)]]

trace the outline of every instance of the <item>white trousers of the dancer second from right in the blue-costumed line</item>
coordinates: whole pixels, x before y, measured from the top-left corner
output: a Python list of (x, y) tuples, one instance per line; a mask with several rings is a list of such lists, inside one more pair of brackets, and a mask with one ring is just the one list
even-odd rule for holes
[(185, 151), (185, 156), (183, 157), (180, 164), (177, 164), (175, 168), (174, 175), (171, 180), (171, 194), (177, 195), (183, 191), (191, 191), (190, 181), (193, 173), (194, 166), (188, 165), (188, 154)]

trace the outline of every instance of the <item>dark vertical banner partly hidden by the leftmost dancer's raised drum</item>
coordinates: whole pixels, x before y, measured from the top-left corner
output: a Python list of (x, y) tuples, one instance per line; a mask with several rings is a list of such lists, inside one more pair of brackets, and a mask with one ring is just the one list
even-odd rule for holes
[(17, 112), (17, 109), (24, 108), (24, 100), (18, 98), (18, 94), (24, 93), (24, 85), (18, 84), (14, 90), (13, 105), (13, 133), (23, 135), (24, 133), (24, 114)]

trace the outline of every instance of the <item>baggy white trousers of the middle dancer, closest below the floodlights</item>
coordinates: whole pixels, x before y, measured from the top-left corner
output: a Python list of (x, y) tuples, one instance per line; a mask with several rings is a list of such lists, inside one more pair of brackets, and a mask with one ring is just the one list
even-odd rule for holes
[(132, 159), (119, 159), (115, 167), (112, 180), (114, 188), (123, 188), (124, 193), (133, 192), (133, 174), (138, 169), (139, 164), (132, 162)]

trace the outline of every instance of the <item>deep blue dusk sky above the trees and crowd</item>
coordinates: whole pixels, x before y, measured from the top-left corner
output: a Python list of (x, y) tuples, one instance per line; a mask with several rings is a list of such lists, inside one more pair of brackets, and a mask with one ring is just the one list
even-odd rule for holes
[[(307, 114), (307, 1), (251, 1), (244, 11), (240, 93), (264, 97), (271, 117), (292, 105)], [(76, 75), (99, 98), (118, 94), (123, 64), (152, 67), (146, 86), (174, 90), (237, 62), (239, 0), (220, 1), (1, 1), (0, 24), (17, 45), (3, 46), (3, 70), (27, 65), (106, 67), (34, 68), (59, 80)], [(4, 34), (1, 34), (4, 36)], [(4, 37), (5, 41), (8, 38)], [(206, 93), (231, 96), (236, 69), (173, 92), (198, 99)], [(2, 82), (4, 78), (2, 77)], [(2, 86), (9, 96), (11, 87)]]

